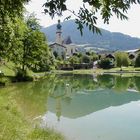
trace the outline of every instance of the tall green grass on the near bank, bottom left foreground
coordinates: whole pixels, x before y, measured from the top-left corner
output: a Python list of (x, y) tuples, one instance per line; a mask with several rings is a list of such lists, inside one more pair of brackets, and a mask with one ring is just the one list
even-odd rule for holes
[[(11, 87), (12, 90), (12, 87)], [(63, 136), (49, 129), (32, 127), (18, 108), (13, 95), (7, 89), (0, 92), (1, 140), (63, 140)]]

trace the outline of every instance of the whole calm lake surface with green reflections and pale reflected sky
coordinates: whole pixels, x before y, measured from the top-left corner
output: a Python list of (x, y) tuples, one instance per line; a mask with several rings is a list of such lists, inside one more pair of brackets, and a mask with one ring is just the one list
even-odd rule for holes
[(140, 140), (140, 77), (50, 75), (10, 92), (33, 124), (68, 140)]

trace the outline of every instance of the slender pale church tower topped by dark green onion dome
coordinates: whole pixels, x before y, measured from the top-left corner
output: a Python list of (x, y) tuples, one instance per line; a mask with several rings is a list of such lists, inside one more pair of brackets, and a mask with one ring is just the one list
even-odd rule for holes
[(58, 24), (56, 26), (56, 43), (62, 44), (62, 26), (60, 24), (60, 20), (58, 20)]

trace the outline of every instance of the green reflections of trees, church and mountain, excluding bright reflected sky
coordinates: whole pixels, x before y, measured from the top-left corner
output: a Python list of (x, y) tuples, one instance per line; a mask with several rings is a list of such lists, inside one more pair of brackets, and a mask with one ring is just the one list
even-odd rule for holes
[[(15, 99), (33, 119), (47, 111), (77, 118), (140, 99), (140, 77), (122, 75), (49, 75), (46, 79), (14, 85)], [(119, 93), (119, 94), (118, 94)]]

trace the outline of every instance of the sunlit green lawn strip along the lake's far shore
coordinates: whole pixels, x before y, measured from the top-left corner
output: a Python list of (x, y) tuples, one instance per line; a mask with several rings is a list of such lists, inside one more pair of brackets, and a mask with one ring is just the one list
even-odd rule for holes
[[(80, 69), (73, 71), (64, 71), (64, 70), (53, 70), (51, 72), (39, 72), (34, 73), (28, 70), (28, 75), (34, 77), (34, 79), (43, 78), (46, 74), (55, 73), (55, 74), (64, 74), (64, 73), (73, 73), (73, 74), (103, 74), (103, 73), (120, 73), (121, 68), (112, 68), (112, 69)], [(4, 73), (5, 76), (15, 76), (15, 65), (11, 62), (6, 63), (6, 65), (0, 66), (0, 70)], [(127, 74), (128, 72), (135, 73), (135, 75), (140, 75), (140, 67), (134, 68), (130, 67), (122, 67), (122, 73)], [(2, 79), (3, 80), (3, 79)], [(5, 79), (4, 79), (5, 80)], [(7, 80), (7, 79), (6, 79)], [(7, 81), (6, 81), (7, 82)]]

